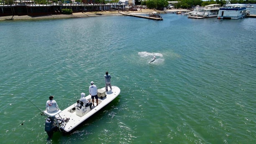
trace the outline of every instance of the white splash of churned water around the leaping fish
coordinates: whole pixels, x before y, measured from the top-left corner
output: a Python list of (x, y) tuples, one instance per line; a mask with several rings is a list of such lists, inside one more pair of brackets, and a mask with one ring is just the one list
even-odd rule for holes
[(152, 62), (151, 64), (159, 64), (163, 63), (165, 59), (163, 58), (163, 55), (161, 53), (149, 53), (147, 51), (142, 51), (138, 53), (141, 58), (145, 58), (145, 61), (150, 62), (152, 58), (155, 56), (156, 60)]

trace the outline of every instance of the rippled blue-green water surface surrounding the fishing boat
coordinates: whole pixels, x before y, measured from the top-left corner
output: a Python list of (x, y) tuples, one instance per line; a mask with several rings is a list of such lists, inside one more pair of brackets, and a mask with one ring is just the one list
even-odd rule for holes
[[(0, 21), (1, 143), (255, 144), (256, 18), (162, 17)], [(120, 95), (47, 142), (48, 97), (65, 109), (105, 71)]]

